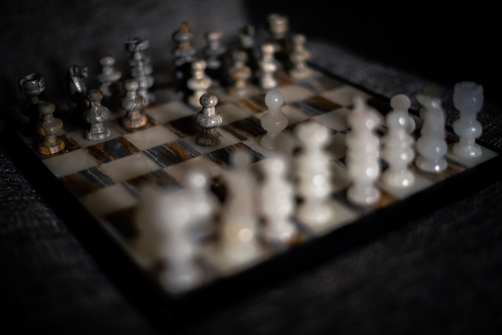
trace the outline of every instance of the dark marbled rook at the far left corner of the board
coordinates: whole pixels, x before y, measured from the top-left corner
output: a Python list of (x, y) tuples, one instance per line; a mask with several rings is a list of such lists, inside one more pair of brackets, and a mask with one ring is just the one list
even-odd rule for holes
[(28, 132), (35, 133), (37, 122), (41, 120), (38, 104), (43, 100), (39, 95), (45, 90), (45, 79), (41, 74), (30, 73), (19, 79), (19, 91), (26, 95), (27, 101), (21, 113), (28, 117)]

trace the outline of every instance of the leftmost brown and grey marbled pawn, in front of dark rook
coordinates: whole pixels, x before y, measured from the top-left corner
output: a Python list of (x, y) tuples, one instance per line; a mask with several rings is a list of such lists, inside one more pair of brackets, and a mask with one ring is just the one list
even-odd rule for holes
[(37, 123), (37, 132), (44, 139), (38, 143), (37, 149), (42, 154), (53, 154), (64, 149), (64, 141), (56, 134), (63, 129), (63, 121), (53, 116), (56, 106), (52, 102), (42, 101), (38, 104), (41, 120)]

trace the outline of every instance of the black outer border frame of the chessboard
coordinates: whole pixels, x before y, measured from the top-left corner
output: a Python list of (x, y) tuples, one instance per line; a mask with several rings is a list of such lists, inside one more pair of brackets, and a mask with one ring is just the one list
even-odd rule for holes
[[(389, 99), (382, 95), (338, 78), (315, 65), (312, 67), (334, 80), (370, 94), (382, 103), (389, 102)], [(416, 111), (411, 112), (418, 115)], [(499, 172), (502, 170), (500, 150), (477, 140), (479, 144), (497, 152), (498, 155), (403, 200), (374, 209), (348, 225), (278, 253), (232, 276), (217, 278), (187, 293), (171, 295), (142, 269), (102, 224), (78, 202), (13, 128), (6, 128), (0, 133), (0, 141), (27, 180), (40, 192), (49, 207), (62, 219), (124, 296), (154, 324), (171, 330), (187, 320), (194, 321), (197, 317), (216, 312), (221, 305), (231, 303), (235, 299), (244, 299), (268, 285), (287, 280), (290, 276), (320, 265), (345, 250), (367, 243), (414, 218), (480, 190), (500, 180)]]

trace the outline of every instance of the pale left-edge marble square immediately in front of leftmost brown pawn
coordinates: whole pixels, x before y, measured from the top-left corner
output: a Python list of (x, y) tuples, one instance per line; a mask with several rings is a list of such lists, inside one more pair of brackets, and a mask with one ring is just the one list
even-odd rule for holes
[(56, 177), (64, 177), (99, 165), (85, 149), (77, 149), (62, 155), (42, 160)]

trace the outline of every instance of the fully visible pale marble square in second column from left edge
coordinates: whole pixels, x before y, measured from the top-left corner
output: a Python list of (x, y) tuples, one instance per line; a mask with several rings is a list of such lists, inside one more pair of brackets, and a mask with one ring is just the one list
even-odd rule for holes
[(109, 176), (117, 183), (160, 169), (161, 166), (157, 165), (157, 163), (148, 158), (142, 152), (137, 152), (126, 157), (112, 160), (101, 164), (98, 168), (98, 170)]

